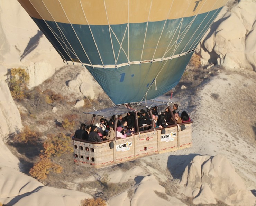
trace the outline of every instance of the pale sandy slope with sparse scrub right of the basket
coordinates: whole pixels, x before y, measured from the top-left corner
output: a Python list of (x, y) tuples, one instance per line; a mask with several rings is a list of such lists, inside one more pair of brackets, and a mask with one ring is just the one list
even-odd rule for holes
[[(256, 75), (255, 72), (221, 71), (210, 82), (199, 87), (198, 94), (184, 96), (194, 124), (193, 147), (149, 157), (180, 177), (196, 155), (222, 154), (244, 179), (248, 189), (256, 188)], [(167, 163), (167, 165), (166, 165)]]

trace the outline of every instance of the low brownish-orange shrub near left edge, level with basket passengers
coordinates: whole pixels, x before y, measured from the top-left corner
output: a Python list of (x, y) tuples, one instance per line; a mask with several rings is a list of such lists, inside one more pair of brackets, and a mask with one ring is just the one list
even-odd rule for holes
[(28, 126), (25, 126), (23, 130), (14, 135), (13, 141), (19, 143), (35, 143), (39, 138), (40, 133), (31, 131)]

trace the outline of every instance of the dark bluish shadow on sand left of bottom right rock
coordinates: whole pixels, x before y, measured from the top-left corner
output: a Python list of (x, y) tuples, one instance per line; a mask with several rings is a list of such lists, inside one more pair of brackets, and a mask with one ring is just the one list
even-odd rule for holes
[[(191, 160), (199, 154), (189, 155), (170, 155), (167, 161), (167, 168), (170, 171), (174, 179), (180, 179), (186, 166), (188, 166)], [(201, 156), (201, 155), (200, 155)]]

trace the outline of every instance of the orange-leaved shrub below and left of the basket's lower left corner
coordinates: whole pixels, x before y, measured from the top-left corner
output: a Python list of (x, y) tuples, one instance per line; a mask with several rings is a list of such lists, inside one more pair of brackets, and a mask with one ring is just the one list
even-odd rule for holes
[(29, 174), (38, 180), (44, 180), (51, 171), (61, 173), (62, 169), (63, 168), (60, 165), (53, 163), (51, 159), (43, 157), (39, 160), (39, 162), (34, 164), (34, 166), (30, 169)]

